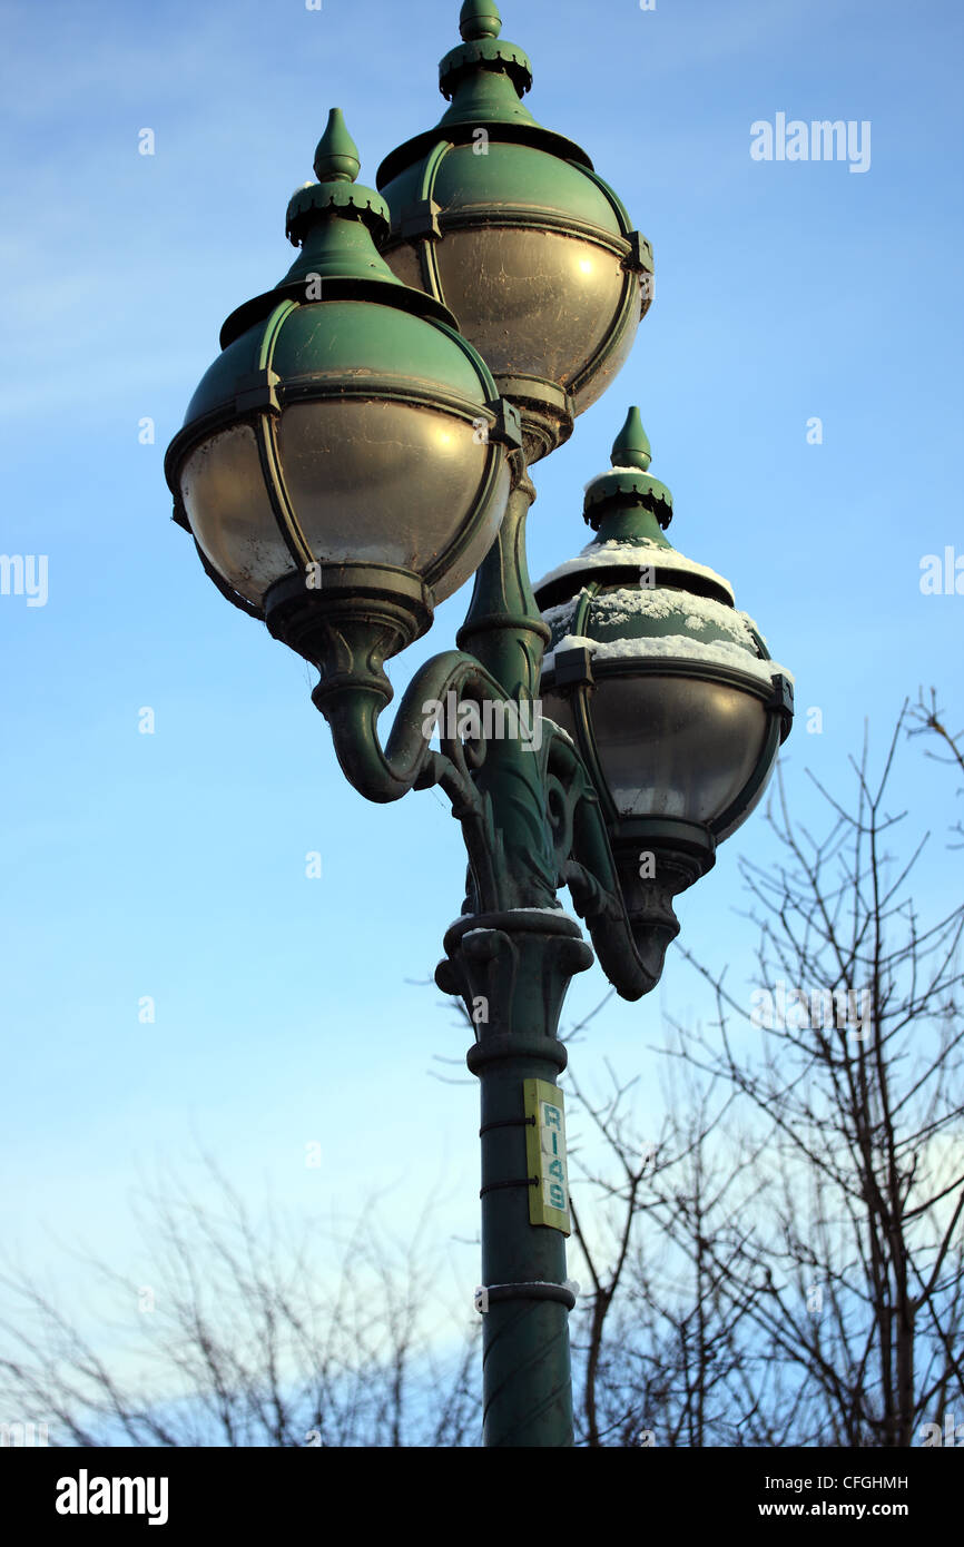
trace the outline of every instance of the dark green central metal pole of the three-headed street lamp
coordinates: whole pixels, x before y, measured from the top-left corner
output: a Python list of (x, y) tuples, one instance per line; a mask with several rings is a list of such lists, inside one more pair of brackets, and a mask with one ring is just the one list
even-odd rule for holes
[[(526, 569), (525, 524), (535, 490), (523, 453), (500, 535), (483, 562), (458, 634), (534, 726), (548, 637)], [(559, 866), (540, 749), (520, 736), (492, 739), (477, 774), (492, 801), (495, 888), (486, 911), (446, 934), (436, 972), (446, 993), (472, 1007), (477, 1041), (467, 1063), (481, 1083), (483, 1442), (494, 1446), (573, 1443), (565, 1235), (531, 1222), (531, 1139), (537, 1115), (526, 1081), (554, 1089), (566, 1066), (555, 1032), (574, 973), (593, 953), (557, 911)], [(532, 1103), (529, 1103), (529, 1108)], [(529, 1139), (529, 1142), (526, 1142)], [(566, 1199), (568, 1202), (568, 1199)]]

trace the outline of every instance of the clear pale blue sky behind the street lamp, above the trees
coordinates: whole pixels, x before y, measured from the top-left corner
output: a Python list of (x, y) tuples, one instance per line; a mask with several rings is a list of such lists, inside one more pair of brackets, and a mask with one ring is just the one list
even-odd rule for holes
[[(534, 62), (535, 118), (585, 145), (656, 254), (628, 365), (535, 470), (532, 574), (588, 540), (583, 484), (639, 404), (668, 535), (730, 579), (797, 674), (785, 769), (809, 818), (805, 767), (839, 786), (865, 718), (882, 746), (933, 682), (964, 721), (964, 596), (919, 589), (925, 554), (964, 554), (964, 11), (506, 0), (503, 15)], [(436, 122), (456, 20), (458, 0), (3, 6), (0, 548), (50, 563), (45, 606), (0, 596), (0, 1235), (26, 1261), (56, 1261), (51, 1231), (127, 1261), (138, 1174), (187, 1165), (198, 1142), (251, 1196), (268, 1183), (348, 1217), (390, 1188), (404, 1228), (441, 1187), (439, 1230), (477, 1230), (475, 1081), (429, 1074), (466, 1035), (410, 982), (461, 903), (458, 828), (433, 794), (373, 808), (345, 784), (313, 674), (218, 597), (161, 470), (223, 319), (291, 263), (285, 207), (328, 108), (373, 183)], [(750, 125), (777, 113), (870, 121), (870, 169), (754, 161)], [(466, 600), (438, 610), (399, 687)], [(902, 755), (921, 823), (942, 789)], [(956, 877), (935, 820), (938, 907)], [(754, 944), (737, 862), (767, 852), (758, 812), (679, 908), (685, 944), (737, 975)], [(586, 973), (568, 1019), (603, 992)], [(655, 1084), (664, 1010), (706, 1009), (670, 953), (650, 999), (594, 1023), (580, 1077), (605, 1055)], [(475, 1272), (469, 1252), (467, 1304)]]

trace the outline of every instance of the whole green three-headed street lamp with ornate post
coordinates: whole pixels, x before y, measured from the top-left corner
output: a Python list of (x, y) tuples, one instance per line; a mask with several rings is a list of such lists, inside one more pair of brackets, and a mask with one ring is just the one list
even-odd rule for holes
[[(438, 786), (461, 823), (467, 896), (436, 981), (466, 1004), (481, 1084), (484, 1443), (555, 1446), (573, 1442), (574, 1306), (557, 1027), (593, 961), (557, 891), (617, 992), (648, 992), (672, 896), (749, 812), (791, 701), (755, 633), (740, 653), (726, 582), (662, 538), (670, 497), (633, 416), (586, 497), (594, 554), (546, 577), (540, 614), (528, 463), (625, 359), (651, 255), (585, 152), (521, 105), (531, 67), (500, 28), (492, 0), (463, 5), (441, 65), (452, 107), (387, 158), (385, 200), (354, 183), (333, 110), (319, 181), (288, 207), (300, 254), (224, 323), (166, 473), (218, 589), (317, 667), (353, 786), (373, 801)], [(648, 610), (631, 608), (650, 549)], [(385, 661), (472, 572), (458, 648), (415, 673), (382, 741)], [(696, 599), (738, 659), (653, 644)]]

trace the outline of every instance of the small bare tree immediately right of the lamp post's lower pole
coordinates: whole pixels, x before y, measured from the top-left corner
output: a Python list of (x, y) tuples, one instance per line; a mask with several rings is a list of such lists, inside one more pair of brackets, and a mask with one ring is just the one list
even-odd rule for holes
[[(664, 1078), (664, 1115), (645, 1139), (636, 1080), (579, 1106), (603, 1140), (602, 1168), (574, 1160), (591, 1190), (593, 1228), (574, 1207), (590, 1273), (577, 1323), (580, 1431), (590, 1446), (780, 1445), (792, 1398), (727, 1278), (738, 1222), (760, 1193), (758, 1145), (732, 1122), (735, 1097), (689, 1063)], [(586, 1210), (588, 1214), (588, 1210)], [(605, 1265), (603, 1265), (605, 1264)]]

